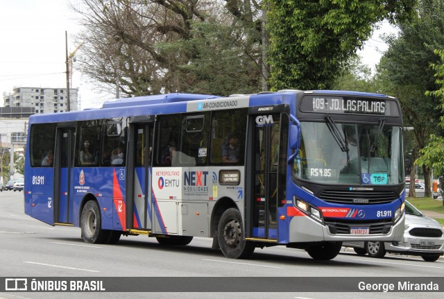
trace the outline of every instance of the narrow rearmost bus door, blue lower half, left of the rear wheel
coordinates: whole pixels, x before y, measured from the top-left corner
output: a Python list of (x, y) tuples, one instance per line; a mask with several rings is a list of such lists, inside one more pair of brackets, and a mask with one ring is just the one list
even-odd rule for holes
[(73, 167), (75, 128), (58, 128), (54, 160), (54, 222), (73, 223), (71, 168)]

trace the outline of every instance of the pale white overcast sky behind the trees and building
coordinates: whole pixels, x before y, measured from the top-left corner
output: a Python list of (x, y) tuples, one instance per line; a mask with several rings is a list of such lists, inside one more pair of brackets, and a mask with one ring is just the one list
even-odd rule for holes
[[(76, 2), (76, 0), (72, 0)], [(80, 31), (78, 17), (68, 7), (67, 0), (1, 0), (0, 1), (0, 105), (3, 94), (15, 87), (66, 88), (65, 31), (68, 33), (68, 51), (78, 45), (74, 35)], [(362, 61), (374, 69), (386, 45), (379, 39), (381, 33), (393, 31), (388, 23), (375, 31), (359, 53)], [(96, 94), (88, 78), (76, 69), (71, 87), (79, 89), (80, 108), (97, 108), (111, 94)]]

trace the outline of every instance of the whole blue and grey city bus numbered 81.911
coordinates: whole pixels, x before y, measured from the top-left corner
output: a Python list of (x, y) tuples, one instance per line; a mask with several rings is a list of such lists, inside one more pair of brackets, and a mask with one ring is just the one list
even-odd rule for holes
[(33, 115), (25, 178), (26, 214), (92, 244), (209, 237), (230, 258), (284, 245), (333, 259), (342, 241), (404, 232), (402, 114), (381, 94), (162, 94)]

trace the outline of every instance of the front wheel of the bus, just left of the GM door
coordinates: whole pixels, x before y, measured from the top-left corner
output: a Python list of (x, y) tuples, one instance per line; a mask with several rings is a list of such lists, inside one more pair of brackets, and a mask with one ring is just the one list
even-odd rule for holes
[(241, 213), (237, 209), (230, 208), (223, 212), (217, 238), (223, 255), (230, 259), (246, 259), (255, 251), (255, 244), (245, 239)]

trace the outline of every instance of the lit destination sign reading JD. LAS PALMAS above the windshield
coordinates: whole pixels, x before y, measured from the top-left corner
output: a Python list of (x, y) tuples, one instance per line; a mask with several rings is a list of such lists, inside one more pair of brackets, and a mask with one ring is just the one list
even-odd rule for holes
[(400, 115), (395, 101), (351, 96), (304, 96), (300, 110), (319, 113), (371, 114), (393, 117)]

